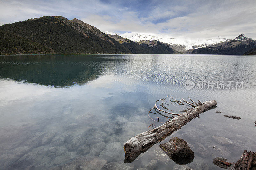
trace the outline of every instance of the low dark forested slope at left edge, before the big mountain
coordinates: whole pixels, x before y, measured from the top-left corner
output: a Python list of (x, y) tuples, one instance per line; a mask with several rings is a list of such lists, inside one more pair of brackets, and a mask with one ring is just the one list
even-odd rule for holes
[(0, 54), (52, 54), (54, 51), (13, 33), (0, 30)]

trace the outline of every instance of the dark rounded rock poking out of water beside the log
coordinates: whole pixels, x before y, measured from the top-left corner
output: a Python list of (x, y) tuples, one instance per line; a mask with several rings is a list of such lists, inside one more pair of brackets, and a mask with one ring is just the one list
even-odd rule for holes
[(187, 142), (178, 137), (172, 137), (169, 142), (159, 146), (177, 164), (191, 163), (195, 157)]

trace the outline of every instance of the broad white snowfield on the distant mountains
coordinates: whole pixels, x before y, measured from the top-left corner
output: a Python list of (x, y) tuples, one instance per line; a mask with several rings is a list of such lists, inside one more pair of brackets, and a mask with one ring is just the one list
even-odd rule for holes
[(226, 38), (221, 38), (221, 37), (216, 37), (212, 39), (192, 40), (184, 37), (174, 38), (168, 35), (160, 35), (160, 34), (153, 34), (153, 33), (137, 33), (137, 32), (124, 33), (124, 34), (121, 34), (120, 36), (135, 42), (146, 41), (146, 40), (157, 40), (163, 43), (167, 43), (169, 45), (175, 45), (175, 46), (180, 45), (185, 47), (184, 50), (206, 47), (210, 44), (224, 42), (228, 40)]

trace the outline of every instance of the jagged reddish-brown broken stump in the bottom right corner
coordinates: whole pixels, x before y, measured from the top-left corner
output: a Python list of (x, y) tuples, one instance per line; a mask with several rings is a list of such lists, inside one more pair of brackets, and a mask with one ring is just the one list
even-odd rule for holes
[(244, 153), (241, 155), (240, 159), (236, 163), (232, 163), (229, 170), (249, 170), (256, 169), (254, 157), (256, 154), (252, 151), (244, 150)]

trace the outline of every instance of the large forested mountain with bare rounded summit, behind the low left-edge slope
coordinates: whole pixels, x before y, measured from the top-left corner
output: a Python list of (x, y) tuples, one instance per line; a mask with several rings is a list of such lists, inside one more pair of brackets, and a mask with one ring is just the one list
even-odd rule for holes
[[(67, 54), (67, 53), (131, 53), (131, 51), (110, 38), (97, 28), (86, 24), (78, 19), (68, 20), (60, 16), (44, 16), (40, 18), (29, 19), (27, 21), (15, 22), (0, 26), (0, 30), (15, 35), (22, 41), (32, 43), (38, 46), (35, 53)], [(16, 41), (15, 36), (12, 42)], [(20, 40), (21, 41), (21, 40)], [(24, 42), (25, 43), (25, 42)], [(41, 45), (39, 47), (39, 44)], [(20, 51), (11, 50), (10, 48), (19, 48), (17, 44), (8, 43), (3, 47), (3, 52), (23, 53)], [(35, 47), (35, 46), (34, 46)], [(47, 47), (46, 51), (42, 48)], [(23, 51), (30, 51), (29, 46), (23, 46)], [(50, 51), (52, 52), (50, 52)], [(47, 52), (47, 53), (48, 53)], [(24, 53), (23, 53), (24, 54)]]

